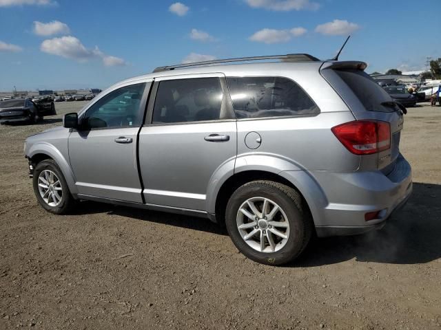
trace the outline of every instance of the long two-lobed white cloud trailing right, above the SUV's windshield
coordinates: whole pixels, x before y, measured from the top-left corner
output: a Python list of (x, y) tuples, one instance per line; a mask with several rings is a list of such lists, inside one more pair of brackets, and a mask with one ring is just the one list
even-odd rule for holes
[(106, 55), (98, 47), (95, 47), (94, 50), (89, 50), (74, 36), (47, 39), (41, 43), (40, 50), (41, 52), (70, 58), (79, 62), (85, 62), (92, 58), (101, 58), (103, 64), (107, 67), (127, 64), (123, 58)]

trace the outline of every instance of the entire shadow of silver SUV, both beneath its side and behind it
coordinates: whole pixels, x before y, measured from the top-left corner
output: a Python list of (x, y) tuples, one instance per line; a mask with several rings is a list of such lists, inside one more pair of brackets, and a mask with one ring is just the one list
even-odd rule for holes
[[(413, 184), (406, 206), (381, 230), (359, 236), (314, 239), (300, 259), (287, 267), (316, 267), (350, 259), (360, 262), (413, 264), (441, 257), (441, 186)], [(227, 235), (208, 219), (83, 201), (73, 214), (103, 213)]]

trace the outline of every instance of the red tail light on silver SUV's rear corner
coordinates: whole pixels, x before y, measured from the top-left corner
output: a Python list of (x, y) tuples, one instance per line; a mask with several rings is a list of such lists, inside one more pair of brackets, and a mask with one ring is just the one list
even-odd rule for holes
[(391, 147), (391, 126), (378, 120), (357, 120), (331, 129), (338, 140), (356, 155), (371, 155)]

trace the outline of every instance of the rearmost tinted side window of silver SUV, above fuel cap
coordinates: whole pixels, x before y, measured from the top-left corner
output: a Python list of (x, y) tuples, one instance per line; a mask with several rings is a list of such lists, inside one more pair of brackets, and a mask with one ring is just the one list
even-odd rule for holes
[(305, 91), (287, 78), (232, 77), (227, 83), (238, 119), (320, 112)]

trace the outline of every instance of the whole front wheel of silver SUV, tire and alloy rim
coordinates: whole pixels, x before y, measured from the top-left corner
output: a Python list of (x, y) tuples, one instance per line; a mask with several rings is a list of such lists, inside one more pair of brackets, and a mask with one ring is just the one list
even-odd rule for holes
[(67, 213), (74, 199), (56, 162), (46, 159), (35, 167), (32, 180), (34, 193), (40, 205), (54, 214)]

